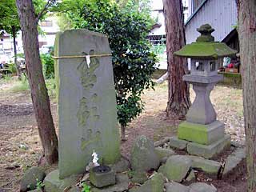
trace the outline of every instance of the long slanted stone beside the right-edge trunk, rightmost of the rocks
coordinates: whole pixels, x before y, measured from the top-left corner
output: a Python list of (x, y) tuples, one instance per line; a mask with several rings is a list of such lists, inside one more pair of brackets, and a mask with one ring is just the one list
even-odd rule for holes
[(234, 152), (226, 158), (223, 174), (229, 174), (245, 158), (246, 148), (238, 148), (234, 150)]

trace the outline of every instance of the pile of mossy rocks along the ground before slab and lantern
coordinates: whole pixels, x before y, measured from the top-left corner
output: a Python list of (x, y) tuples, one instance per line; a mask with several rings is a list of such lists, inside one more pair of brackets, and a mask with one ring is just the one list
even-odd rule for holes
[(170, 147), (161, 147), (166, 146), (166, 142), (169, 146), (170, 139), (163, 141), (153, 143), (146, 136), (138, 137), (131, 151), (130, 162), (121, 158), (116, 164), (109, 165), (114, 172), (114, 185), (96, 187), (90, 182), (88, 173), (84, 177), (72, 175), (60, 180), (58, 170), (46, 175), (35, 166), (22, 178), (21, 191), (42, 191), (36, 189), (41, 183), (46, 192), (78, 192), (81, 191), (81, 182), (86, 182), (92, 192), (214, 192), (217, 191), (214, 186), (196, 182), (195, 172), (201, 170), (211, 178), (216, 178), (219, 173), (230, 173), (246, 157), (245, 149), (238, 147), (226, 158), (226, 166), (223, 167), (221, 162), (176, 154)]

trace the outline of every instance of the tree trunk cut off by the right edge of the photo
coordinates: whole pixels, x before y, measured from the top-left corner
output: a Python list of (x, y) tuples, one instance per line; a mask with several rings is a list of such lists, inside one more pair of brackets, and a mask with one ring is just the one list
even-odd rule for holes
[(256, 1), (238, 2), (238, 35), (246, 130), (247, 191), (256, 191)]

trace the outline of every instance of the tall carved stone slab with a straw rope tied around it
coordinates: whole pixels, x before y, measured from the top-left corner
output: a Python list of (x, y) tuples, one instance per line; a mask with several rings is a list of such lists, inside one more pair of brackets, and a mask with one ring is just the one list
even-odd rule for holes
[[(56, 35), (59, 174), (82, 173), (93, 150), (105, 164), (118, 162), (120, 142), (114, 77), (108, 39), (89, 30), (66, 30)], [(105, 54), (105, 55), (104, 55)]]

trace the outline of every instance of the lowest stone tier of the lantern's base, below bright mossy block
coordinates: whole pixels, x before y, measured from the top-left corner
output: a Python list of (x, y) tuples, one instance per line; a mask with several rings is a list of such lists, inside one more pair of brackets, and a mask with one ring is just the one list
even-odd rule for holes
[(230, 139), (230, 135), (225, 135), (217, 142), (214, 142), (208, 146), (190, 142), (188, 143), (186, 150), (189, 154), (195, 154), (203, 158), (213, 158), (215, 155), (222, 152), (222, 150), (224, 150), (226, 147), (230, 146)]

